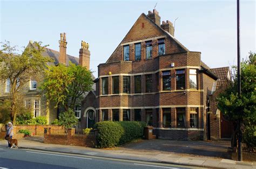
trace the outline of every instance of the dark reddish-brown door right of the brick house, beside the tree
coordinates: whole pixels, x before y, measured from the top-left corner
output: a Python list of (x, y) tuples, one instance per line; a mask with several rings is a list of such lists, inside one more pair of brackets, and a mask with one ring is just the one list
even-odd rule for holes
[(220, 112), (220, 138), (231, 138), (233, 125), (231, 121)]

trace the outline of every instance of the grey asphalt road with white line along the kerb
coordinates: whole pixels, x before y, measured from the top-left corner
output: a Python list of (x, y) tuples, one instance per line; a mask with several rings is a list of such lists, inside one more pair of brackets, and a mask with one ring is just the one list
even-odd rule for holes
[(0, 147), (0, 168), (194, 168), (28, 149)]

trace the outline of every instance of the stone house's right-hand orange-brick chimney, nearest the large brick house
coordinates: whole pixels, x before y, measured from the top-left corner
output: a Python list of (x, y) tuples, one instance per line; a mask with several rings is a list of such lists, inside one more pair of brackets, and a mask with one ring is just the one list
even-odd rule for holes
[(86, 67), (87, 70), (90, 70), (90, 56), (89, 43), (82, 40), (81, 49), (79, 50), (79, 65)]

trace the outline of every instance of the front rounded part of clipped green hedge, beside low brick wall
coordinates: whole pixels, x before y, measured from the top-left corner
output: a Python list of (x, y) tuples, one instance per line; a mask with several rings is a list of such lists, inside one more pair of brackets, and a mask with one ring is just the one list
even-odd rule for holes
[(117, 146), (124, 134), (123, 127), (113, 121), (98, 122), (95, 124), (95, 129), (98, 130), (97, 141), (100, 148)]

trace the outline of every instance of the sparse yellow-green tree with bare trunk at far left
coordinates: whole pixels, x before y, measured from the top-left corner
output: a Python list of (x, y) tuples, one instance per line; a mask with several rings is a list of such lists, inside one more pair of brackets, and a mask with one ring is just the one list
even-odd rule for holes
[(30, 81), (36, 79), (46, 63), (51, 62), (49, 57), (43, 57), (45, 46), (42, 42), (34, 42), (33, 47), (24, 48), (22, 54), (17, 53), (16, 46), (10, 46), (9, 42), (2, 43), (0, 50), (0, 80), (10, 82), (11, 120), (15, 125), (18, 112), (17, 102), (21, 88)]

